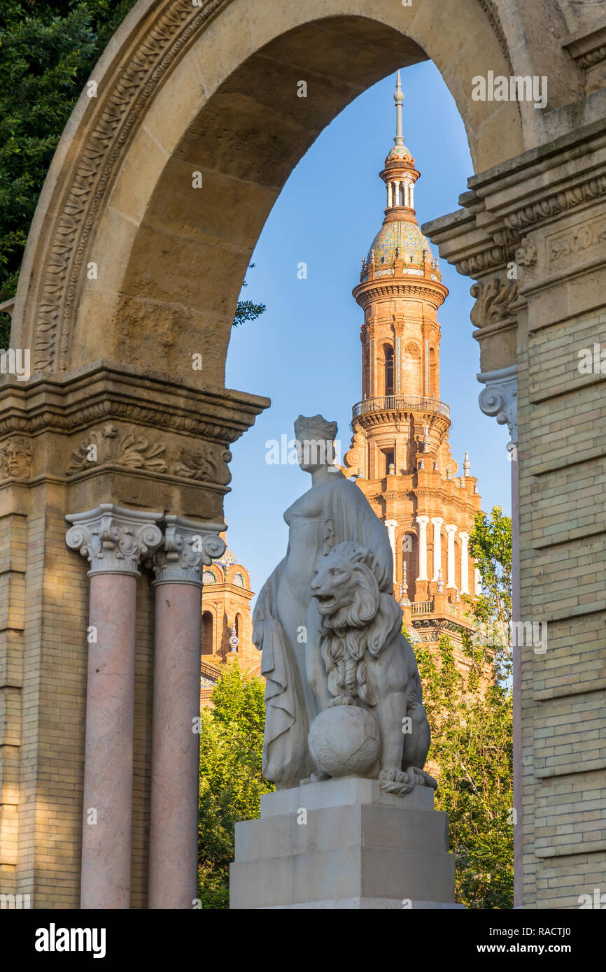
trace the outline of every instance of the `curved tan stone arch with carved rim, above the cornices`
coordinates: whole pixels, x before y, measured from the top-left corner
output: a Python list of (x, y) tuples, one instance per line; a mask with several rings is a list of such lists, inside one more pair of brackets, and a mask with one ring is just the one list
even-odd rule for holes
[[(267, 214), (360, 91), (431, 57), (477, 171), (536, 140), (517, 104), (471, 98), (470, 72), (510, 73), (508, 29), (478, 0), (459, 0), (456, 15), (441, 0), (140, 0), (93, 71), (98, 97), (83, 93), (53, 159), (14, 342), (35, 349), (38, 371), (104, 359), (191, 379), (187, 336), (204, 357), (204, 386), (222, 385), (233, 307)], [(301, 78), (309, 90), (297, 99)]]

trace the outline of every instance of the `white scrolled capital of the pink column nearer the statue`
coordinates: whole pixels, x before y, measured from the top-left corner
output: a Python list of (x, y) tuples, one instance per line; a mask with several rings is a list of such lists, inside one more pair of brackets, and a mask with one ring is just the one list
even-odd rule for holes
[(164, 537), (154, 556), (156, 574), (154, 586), (159, 584), (196, 584), (202, 586), (202, 567), (225, 552), (225, 540), (219, 532), (221, 523), (198, 523), (183, 516), (164, 517)]

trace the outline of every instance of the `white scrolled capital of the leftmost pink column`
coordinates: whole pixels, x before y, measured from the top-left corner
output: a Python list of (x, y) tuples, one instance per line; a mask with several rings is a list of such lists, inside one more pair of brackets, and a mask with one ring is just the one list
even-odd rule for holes
[(89, 577), (96, 573), (127, 573), (138, 577), (139, 561), (158, 548), (162, 513), (124, 509), (101, 503), (85, 513), (68, 513), (72, 524), (65, 542), (89, 559)]

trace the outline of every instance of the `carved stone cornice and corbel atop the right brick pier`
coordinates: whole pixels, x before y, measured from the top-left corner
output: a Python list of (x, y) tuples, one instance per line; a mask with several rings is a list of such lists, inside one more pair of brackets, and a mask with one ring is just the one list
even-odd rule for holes
[(473, 176), (461, 209), (421, 227), (442, 258), (478, 280), (471, 317), (482, 372), (515, 364), (518, 318), (531, 295), (533, 325), (549, 327), (553, 309), (542, 295), (561, 281), (564, 296), (566, 281), (593, 265), (597, 273), (606, 253), (606, 121), (554, 129), (553, 137)]

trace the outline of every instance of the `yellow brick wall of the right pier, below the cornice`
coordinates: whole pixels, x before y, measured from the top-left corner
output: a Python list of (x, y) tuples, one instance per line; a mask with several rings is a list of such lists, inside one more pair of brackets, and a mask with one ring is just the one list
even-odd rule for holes
[(521, 618), (548, 623), (545, 653), (521, 648), (526, 908), (606, 886), (606, 395), (578, 372), (594, 341), (604, 309), (541, 322), (518, 363)]

